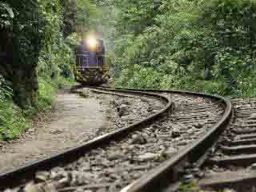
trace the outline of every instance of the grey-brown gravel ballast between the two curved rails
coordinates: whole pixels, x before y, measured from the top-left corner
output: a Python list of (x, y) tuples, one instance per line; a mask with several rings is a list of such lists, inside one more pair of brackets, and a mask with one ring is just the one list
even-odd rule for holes
[[(106, 146), (90, 150), (84, 157), (68, 166), (38, 172), (32, 182), (17, 189), (26, 192), (41, 191), (39, 189), (46, 191), (49, 187), (52, 191), (120, 191), (146, 171), (159, 166), (166, 159), (173, 158), (179, 150), (200, 138), (222, 117), (223, 108), (218, 102), (181, 94), (167, 96), (173, 99), (174, 109), (167, 111), (150, 126), (134, 131), (122, 140), (117, 139)], [(150, 113), (158, 110), (152, 104), (140, 103), (149, 105)], [(111, 120), (113, 124), (116, 127), (129, 124), (132, 118), (122, 118), (126, 115), (120, 117), (120, 113), (126, 114), (129, 103), (119, 103), (114, 98), (113, 105), (118, 106), (118, 116)], [(134, 102), (132, 106), (135, 106)], [(145, 111), (142, 111), (141, 118), (143, 114)], [(101, 133), (105, 133), (104, 130)]]

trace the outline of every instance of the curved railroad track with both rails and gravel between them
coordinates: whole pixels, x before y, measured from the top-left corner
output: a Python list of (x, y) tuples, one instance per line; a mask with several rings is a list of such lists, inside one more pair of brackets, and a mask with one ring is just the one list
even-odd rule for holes
[(181, 178), (190, 180), (184, 170), (192, 163), (202, 165), (230, 122), (231, 105), (225, 98), (185, 91), (102, 87), (97, 90), (105, 94), (118, 92), (159, 98), (166, 106), (142, 121), (95, 138), (83, 146), (1, 174), (1, 189), (171, 190)]

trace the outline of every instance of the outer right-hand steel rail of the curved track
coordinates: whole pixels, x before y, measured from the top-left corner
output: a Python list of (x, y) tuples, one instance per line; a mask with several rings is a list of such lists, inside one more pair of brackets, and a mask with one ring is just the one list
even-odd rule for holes
[[(102, 90), (112, 90), (110, 88), (101, 87)], [(120, 89), (120, 88), (118, 88)], [(121, 90), (121, 89), (120, 89)], [(133, 89), (127, 89), (133, 90)], [(195, 140), (185, 150), (163, 162), (160, 166), (150, 170), (144, 174), (142, 178), (139, 178), (130, 186), (126, 187), (126, 192), (155, 192), (161, 191), (165, 188), (169, 188), (170, 191), (176, 188), (177, 183), (180, 181), (181, 170), (187, 165), (187, 163), (193, 164), (202, 163), (206, 160), (206, 155), (210, 149), (216, 144), (219, 136), (223, 133), (228, 126), (230, 126), (230, 120), (233, 114), (232, 104), (229, 99), (221, 96), (215, 96), (212, 94), (195, 93), (185, 90), (134, 90), (134, 91), (147, 91), (154, 93), (170, 93), (170, 94), (190, 94), (203, 98), (214, 99), (221, 102), (225, 106), (224, 114), (219, 122), (217, 122), (209, 131), (202, 137)], [(161, 183), (161, 186), (159, 184)]]

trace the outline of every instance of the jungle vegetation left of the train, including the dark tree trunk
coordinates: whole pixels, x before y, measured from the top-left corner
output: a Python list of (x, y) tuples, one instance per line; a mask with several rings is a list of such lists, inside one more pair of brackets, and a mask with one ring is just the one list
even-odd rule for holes
[(99, 13), (90, 0), (0, 2), (0, 140), (17, 138), (74, 82), (76, 26), (93, 28)]

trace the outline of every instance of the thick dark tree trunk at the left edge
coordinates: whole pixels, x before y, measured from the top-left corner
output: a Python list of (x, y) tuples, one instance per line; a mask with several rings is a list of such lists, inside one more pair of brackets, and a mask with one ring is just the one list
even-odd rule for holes
[(41, 45), (38, 3), (26, 0), (9, 3), (19, 14), (14, 15), (11, 26), (0, 28), (0, 74), (10, 82), (14, 102), (26, 108), (34, 104), (38, 90), (36, 66)]

